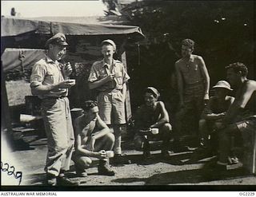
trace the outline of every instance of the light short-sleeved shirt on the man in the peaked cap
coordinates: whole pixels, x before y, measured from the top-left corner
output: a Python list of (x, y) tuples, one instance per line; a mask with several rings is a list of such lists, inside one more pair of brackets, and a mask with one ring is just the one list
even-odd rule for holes
[[(38, 85), (54, 85), (62, 81), (64, 81), (64, 77), (58, 61), (53, 61), (46, 56), (34, 64), (30, 76), (31, 88)], [(63, 97), (67, 96), (67, 94), (68, 89), (57, 89), (38, 97), (42, 99), (46, 97)]]

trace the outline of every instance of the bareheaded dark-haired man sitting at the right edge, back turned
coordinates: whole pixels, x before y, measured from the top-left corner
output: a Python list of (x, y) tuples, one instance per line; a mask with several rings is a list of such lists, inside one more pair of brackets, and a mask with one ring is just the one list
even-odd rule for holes
[(243, 144), (250, 142), (256, 131), (256, 81), (246, 78), (246, 65), (237, 62), (226, 67), (227, 80), (237, 89), (233, 104), (221, 123), (216, 123), (219, 139), (218, 162), (214, 168), (226, 170), (230, 155), (231, 137), (241, 136)]

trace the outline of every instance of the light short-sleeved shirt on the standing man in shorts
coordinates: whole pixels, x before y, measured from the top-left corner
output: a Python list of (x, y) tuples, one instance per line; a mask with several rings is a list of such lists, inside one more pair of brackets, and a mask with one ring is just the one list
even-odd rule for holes
[(91, 67), (90, 76), (88, 81), (94, 82), (101, 80), (104, 77), (109, 76), (110, 74), (116, 74), (114, 81), (109, 81), (101, 87), (97, 88), (100, 92), (109, 91), (112, 89), (121, 90), (123, 84), (130, 79), (129, 75), (126, 73), (124, 66), (121, 61), (113, 60), (113, 69), (110, 70), (110, 65), (106, 64), (104, 60), (96, 61)]

